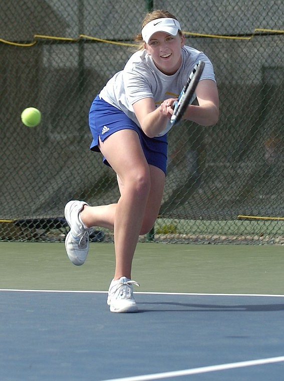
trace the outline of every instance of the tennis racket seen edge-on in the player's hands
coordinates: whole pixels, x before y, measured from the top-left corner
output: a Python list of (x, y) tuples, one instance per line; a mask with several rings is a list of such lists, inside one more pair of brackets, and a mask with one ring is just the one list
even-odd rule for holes
[(171, 116), (171, 124), (177, 124), (182, 118), (186, 107), (191, 103), (191, 98), (195, 92), (196, 86), (199, 82), (200, 76), (203, 72), (205, 63), (199, 61), (190, 73), (186, 84), (184, 85), (181, 93), (179, 94), (178, 100), (172, 105), (173, 114)]

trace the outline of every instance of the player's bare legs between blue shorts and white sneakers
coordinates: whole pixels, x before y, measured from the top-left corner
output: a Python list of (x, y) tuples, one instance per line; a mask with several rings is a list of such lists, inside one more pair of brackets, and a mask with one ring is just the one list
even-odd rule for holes
[(86, 206), (81, 218), (86, 226), (114, 229), (114, 279), (122, 276), (131, 278), (132, 259), (138, 237), (144, 230), (151, 229), (159, 211), (164, 173), (159, 168), (149, 167), (138, 135), (133, 130), (116, 132), (104, 143), (101, 142), (100, 148), (118, 175), (121, 197), (117, 204)]

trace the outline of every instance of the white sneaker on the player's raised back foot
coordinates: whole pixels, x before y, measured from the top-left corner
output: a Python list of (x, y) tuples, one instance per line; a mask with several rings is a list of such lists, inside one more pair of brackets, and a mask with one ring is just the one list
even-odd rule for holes
[(79, 214), (84, 205), (84, 201), (69, 201), (66, 204), (64, 214), (70, 226), (70, 232), (65, 239), (67, 255), (74, 265), (80, 266), (86, 261), (89, 251), (89, 236), (92, 228), (85, 228), (79, 220)]

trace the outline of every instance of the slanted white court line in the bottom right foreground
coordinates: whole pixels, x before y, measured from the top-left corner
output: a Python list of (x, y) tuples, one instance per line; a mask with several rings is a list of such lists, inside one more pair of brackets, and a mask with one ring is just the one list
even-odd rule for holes
[(190, 374), (214, 372), (214, 371), (218, 371), (218, 370), (242, 368), (242, 367), (246, 367), (246, 366), (271, 364), (273, 362), (281, 362), (281, 361), (284, 361), (284, 356), (260, 358), (258, 360), (231, 362), (228, 364), (203, 366), (200, 368), (192, 368), (192, 369), (176, 370), (176, 371), (163, 372), (163, 373), (137, 375), (137, 376), (132, 376), (132, 377), (111, 378), (111, 379), (106, 379), (104, 381), (147, 381), (147, 380), (152, 380), (152, 379), (171, 378), (171, 377), (179, 377), (179, 376), (190, 375)]

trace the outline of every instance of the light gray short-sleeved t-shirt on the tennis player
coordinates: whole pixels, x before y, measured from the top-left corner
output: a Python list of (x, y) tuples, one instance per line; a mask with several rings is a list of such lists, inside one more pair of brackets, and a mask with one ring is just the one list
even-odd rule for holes
[[(107, 82), (99, 94), (100, 98), (125, 112), (141, 128), (132, 105), (140, 99), (153, 98), (158, 107), (165, 99), (177, 98), (198, 61), (205, 62), (200, 80), (211, 79), (215, 82), (212, 63), (203, 52), (184, 46), (181, 56), (182, 64), (178, 71), (166, 75), (155, 66), (146, 50), (134, 53), (124, 69)], [(170, 128), (169, 121), (157, 136), (164, 135)]]

